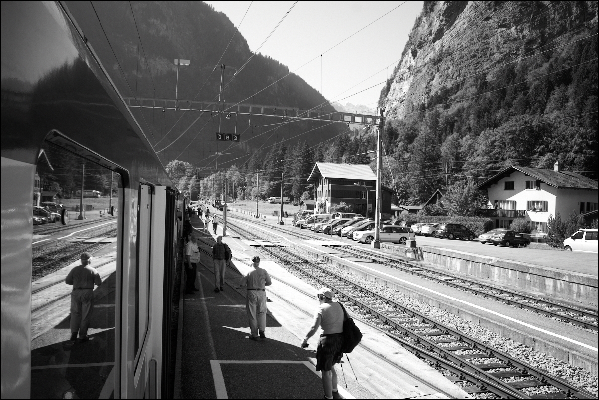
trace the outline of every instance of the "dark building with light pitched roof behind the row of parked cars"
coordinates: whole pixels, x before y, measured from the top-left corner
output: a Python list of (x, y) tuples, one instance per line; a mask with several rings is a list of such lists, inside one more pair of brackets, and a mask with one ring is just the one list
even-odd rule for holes
[[(322, 204), (324, 211), (331, 213), (331, 207), (344, 202), (352, 207), (353, 213), (372, 216), (376, 204), (376, 175), (370, 166), (362, 164), (341, 164), (317, 162), (308, 177), (314, 184), (314, 200), (317, 207)], [(367, 192), (368, 190), (368, 192)], [(391, 218), (392, 190), (383, 186), (381, 197), (381, 219)], [(367, 204), (368, 201), (368, 204)]]

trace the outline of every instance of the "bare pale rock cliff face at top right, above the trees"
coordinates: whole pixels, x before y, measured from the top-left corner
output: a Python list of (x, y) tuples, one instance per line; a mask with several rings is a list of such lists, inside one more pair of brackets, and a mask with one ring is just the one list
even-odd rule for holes
[(447, 87), (596, 22), (596, 1), (426, 1), (379, 105), (403, 119)]

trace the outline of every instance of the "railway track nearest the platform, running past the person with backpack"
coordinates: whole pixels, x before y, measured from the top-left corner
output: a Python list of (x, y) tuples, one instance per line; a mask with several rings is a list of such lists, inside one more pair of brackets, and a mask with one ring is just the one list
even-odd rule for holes
[[(230, 225), (242, 237), (256, 237), (253, 232), (232, 223)], [(449, 375), (445, 375), (469, 393), (492, 393), (500, 398), (521, 399), (595, 398), (561, 378), (468, 337), (283, 247), (261, 246), (261, 250), (301, 271), (313, 280), (315, 286), (331, 287), (340, 295), (340, 301), (361, 316), (361, 320), (400, 341), (406, 349), (436, 368), (449, 371)], [(532, 392), (536, 394), (528, 394)]]

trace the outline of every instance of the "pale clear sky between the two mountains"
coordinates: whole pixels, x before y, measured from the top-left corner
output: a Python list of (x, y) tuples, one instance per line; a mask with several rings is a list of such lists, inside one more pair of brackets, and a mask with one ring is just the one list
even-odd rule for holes
[[(294, 1), (207, 4), (225, 13), (235, 26), (240, 25), (247, 11), (239, 32), (250, 50), (256, 51)], [(322, 89), (329, 101), (365, 105), (374, 112), (380, 89), (400, 60), (422, 4), (298, 1), (259, 52), (287, 65), (289, 71), (297, 69), (295, 73), (317, 90)]]

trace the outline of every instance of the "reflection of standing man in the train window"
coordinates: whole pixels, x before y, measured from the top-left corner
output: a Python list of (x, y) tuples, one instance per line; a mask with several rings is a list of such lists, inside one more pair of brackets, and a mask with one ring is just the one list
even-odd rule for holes
[(93, 312), (93, 285), (102, 285), (100, 274), (92, 268), (92, 255), (84, 252), (80, 256), (81, 265), (77, 265), (66, 275), (65, 283), (72, 284), (71, 292), (71, 340), (85, 342), (87, 328), (92, 320)]

